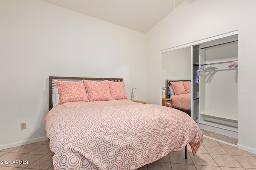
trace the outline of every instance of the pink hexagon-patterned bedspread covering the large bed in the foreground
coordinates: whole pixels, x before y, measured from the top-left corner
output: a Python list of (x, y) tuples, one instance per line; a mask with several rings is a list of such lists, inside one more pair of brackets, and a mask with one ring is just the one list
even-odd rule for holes
[(62, 104), (45, 123), (55, 170), (134, 170), (203, 142), (186, 113), (130, 100)]

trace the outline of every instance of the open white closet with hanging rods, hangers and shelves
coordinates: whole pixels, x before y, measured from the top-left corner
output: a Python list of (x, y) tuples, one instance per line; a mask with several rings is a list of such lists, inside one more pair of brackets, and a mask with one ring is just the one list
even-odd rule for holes
[(192, 47), (194, 120), (201, 129), (238, 138), (238, 32)]

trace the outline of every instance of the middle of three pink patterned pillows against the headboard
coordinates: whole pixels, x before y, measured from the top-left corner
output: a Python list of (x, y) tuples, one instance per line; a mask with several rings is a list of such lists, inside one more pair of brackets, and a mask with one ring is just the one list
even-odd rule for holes
[(114, 100), (110, 94), (108, 81), (95, 82), (89, 80), (83, 80), (89, 101), (106, 101)]

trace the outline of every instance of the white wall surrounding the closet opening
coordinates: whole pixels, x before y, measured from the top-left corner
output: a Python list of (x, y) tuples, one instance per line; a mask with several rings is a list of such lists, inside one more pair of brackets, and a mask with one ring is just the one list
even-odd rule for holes
[(238, 147), (254, 153), (255, 6), (255, 0), (185, 0), (146, 33), (146, 100), (161, 104), (161, 50), (238, 30)]

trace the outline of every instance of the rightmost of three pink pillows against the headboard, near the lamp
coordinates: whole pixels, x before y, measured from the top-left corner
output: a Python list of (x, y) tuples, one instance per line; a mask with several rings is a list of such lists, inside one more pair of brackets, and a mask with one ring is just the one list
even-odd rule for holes
[(114, 100), (128, 99), (125, 92), (124, 82), (112, 82), (108, 81), (110, 94)]

